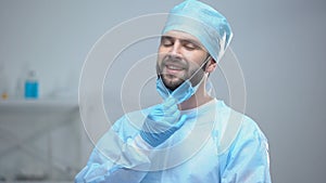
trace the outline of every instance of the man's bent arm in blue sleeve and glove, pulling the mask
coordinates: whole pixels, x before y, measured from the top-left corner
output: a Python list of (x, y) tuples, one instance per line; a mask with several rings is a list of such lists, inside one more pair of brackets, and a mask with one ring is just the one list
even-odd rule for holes
[(186, 116), (180, 117), (175, 102), (168, 99), (148, 115), (127, 114), (116, 121), (97, 144), (75, 182), (140, 182), (150, 170), (151, 158), (155, 158), (151, 151), (185, 122)]

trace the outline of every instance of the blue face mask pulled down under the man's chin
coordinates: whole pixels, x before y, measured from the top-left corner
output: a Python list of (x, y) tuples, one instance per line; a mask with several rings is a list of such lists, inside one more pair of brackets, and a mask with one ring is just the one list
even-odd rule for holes
[[(198, 68), (201, 69), (201, 67), (209, 61), (211, 56), (209, 56), (203, 64)], [(177, 101), (177, 104), (180, 104), (187, 100), (189, 100), (198, 90), (199, 86), (201, 84), (201, 82), (203, 81), (204, 77), (202, 77), (202, 79), (200, 80), (200, 82), (192, 87), (190, 79), (198, 73), (198, 70), (192, 74), (192, 76), (185, 80), (178, 88), (176, 88), (174, 91), (168, 90), (164, 82), (162, 81), (162, 78), (159, 77), (156, 79), (156, 90), (159, 92), (159, 94), (166, 100), (167, 97), (172, 96)]]

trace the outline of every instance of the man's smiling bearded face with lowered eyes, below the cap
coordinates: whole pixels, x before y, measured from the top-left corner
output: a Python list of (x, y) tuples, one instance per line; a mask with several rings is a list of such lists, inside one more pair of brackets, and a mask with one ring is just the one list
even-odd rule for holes
[(175, 90), (190, 77), (196, 86), (203, 77), (201, 67), (208, 55), (196, 37), (183, 31), (167, 31), (161, 38), (156, 71), (170, 90)]

